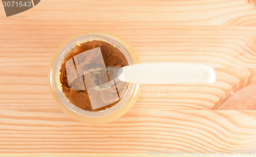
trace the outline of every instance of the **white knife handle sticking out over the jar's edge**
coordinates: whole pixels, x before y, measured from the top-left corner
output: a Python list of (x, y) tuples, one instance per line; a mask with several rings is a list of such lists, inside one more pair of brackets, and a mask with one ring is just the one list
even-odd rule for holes
[(119, 80), (136, 84), (214, 83), (214, 68), (201, 64), (151, 62), (122, 67)]

